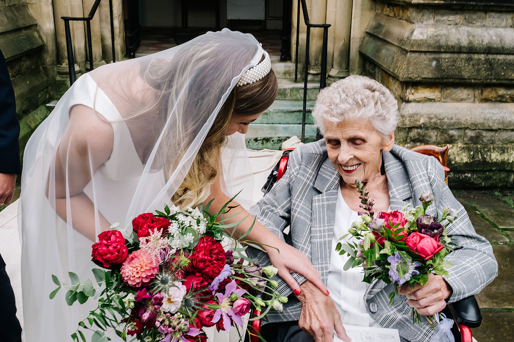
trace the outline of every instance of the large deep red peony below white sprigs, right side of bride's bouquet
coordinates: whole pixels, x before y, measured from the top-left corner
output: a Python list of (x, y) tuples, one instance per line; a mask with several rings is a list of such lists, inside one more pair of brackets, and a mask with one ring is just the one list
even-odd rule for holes
[(223, 270), (226, 260), (222, 244), (211, 236), (203, 236), (191, 253), (185, 269), (200, 273), (207, 281), (212, 281)]

